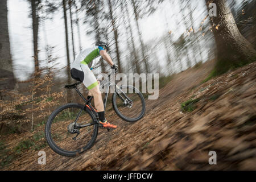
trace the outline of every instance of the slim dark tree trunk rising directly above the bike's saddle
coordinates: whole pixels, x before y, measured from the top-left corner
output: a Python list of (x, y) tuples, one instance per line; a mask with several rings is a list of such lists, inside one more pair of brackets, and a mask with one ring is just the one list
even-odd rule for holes
[(63, 0), (63, 12), (64, 12), (64, 23), (65, 23), (65, 40), (66, 40), (66, 52), (67, 52), (67, 74), (68, 74), (68, 84), (71, 83), (70, 75), (70, 60), (69, 60), (69, 48), (68, 48), (68, 23), (67, 23), (67, 9), (66, 0)]

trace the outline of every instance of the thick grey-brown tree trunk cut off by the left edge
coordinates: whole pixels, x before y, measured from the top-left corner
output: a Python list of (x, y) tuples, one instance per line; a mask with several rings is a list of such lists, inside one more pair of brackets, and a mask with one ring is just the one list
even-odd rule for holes
[(0, 32), (0, 90), (13, 90), (15, 86), (15, 79), (10, 51), (7, 0), (0, 1)]

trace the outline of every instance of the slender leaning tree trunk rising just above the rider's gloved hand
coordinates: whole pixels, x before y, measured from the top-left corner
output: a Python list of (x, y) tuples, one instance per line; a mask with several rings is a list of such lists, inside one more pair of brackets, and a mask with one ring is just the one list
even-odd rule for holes
[(113, 16), (112, 4), (111, 4), (110, 0), (108, 1), (108, 4), (109, 4), (109, 12), (110, 12), (112, 28), (113, 28), (113, 31), (114, 31), (115, 53), (117, 54), (118, 72), (122, 73), (121, 60), (120, 60), (119, 48), (118, 48), (118, 31), (117, 31), (117, 27), (115, 27), (115, 19), (114, 19), (114, 16)]

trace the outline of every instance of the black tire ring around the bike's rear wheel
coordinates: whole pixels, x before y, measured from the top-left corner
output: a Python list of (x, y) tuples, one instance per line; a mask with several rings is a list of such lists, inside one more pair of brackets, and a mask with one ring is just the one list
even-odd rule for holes
[[(60, 113), (62, 110), (67, 109), (69, 107), (78, 107), (80, 109), (84, 109), (84, 105), (77, 104), (77, 103), (69, 103), (69, 104), (65, 104), (65, 105), (60, 106), (59, 108), (57, 108), (55, 111), (52, 112), (52, 114), (48, 118), (48, 121), (47, 121), (46, 127), (45, 127), (45, 136), (46, 136), (47, 143), (49, 144), (49, 147), (51, 147), (51, 149), (53, 151), (55, 151), (57, 154), (60, 154), (60, 155), (63, 155), (63, 156), (76, 156), (78, 154), (81, 154), (85, 150), (88, 150), (90, 147), (93, 146), (93, 144), (94, 144), (94, 142), (97, 138), (97, 135), (98, 135), (98, 124), (94, 125), (92, 139), (90, 139), (89, 143), (85, 147), (82, 147), (82, 150), (79, 150), (79, 151), (78, 150), (77, 151), (63, 150), (62, 148), (57, 146), (55, 144), (55, 142), (53, 141), (53, 139), (52, 139), (51, 125), (52, 125), (53, 119), (56, 117), (56, 115), (58, 113)], [(85, 111), (86, 111), (86, 113), (88, 113), (90, 115), (90, 117), (92, 119), (94, 118), (94, 115), (92, 114), (92, 112), (87, 107), (85, 107)]]

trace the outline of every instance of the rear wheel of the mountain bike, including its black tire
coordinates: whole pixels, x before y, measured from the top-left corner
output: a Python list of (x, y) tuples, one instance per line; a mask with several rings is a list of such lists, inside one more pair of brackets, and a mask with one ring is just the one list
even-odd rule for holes
[[(89, 149), (98, 135), (98, 124), (93, 124), (93, 118), (87, 107), (84, 110), (84, 105), (71, 103), (60, 106), (46, 123), (45, 134), (49, 147), (64, 156), (75, 156)], [(88, 126), (79, 128), (78, 125)], [(76, 131), (80, 134), (77, 135)]]

